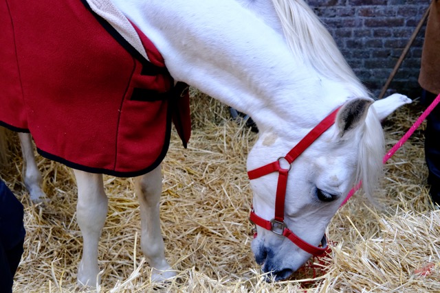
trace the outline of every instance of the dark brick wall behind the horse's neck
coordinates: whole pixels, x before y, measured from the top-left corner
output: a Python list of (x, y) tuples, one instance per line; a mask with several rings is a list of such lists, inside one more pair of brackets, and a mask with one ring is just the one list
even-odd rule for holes
[[(379, 95), (430, 0), (306, 0), (327, 25), (356, 75)], [(420, 93), (424, 25), (388, 93)], [(387, 93), (387, 94), (388, 94)]]

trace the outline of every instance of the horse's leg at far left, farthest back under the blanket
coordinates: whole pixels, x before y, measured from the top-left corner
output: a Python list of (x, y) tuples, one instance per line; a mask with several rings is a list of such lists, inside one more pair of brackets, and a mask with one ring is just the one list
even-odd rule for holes
[(47, 201), (47, 196), (41, 189), (43, 177), (39, 168), (36, 166), (34, 156), (34, 145), (30, 133), (19, 132), (21, 153), (23, 154), (23, 180), (28, 189), (30, 199), (34, 203)]

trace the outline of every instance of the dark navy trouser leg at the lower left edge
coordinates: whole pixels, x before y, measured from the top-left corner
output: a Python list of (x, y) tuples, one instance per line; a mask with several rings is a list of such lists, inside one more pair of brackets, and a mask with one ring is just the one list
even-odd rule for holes
[(0, 293), (11, 293), (23, 254), (23, 205), (0, 180)]

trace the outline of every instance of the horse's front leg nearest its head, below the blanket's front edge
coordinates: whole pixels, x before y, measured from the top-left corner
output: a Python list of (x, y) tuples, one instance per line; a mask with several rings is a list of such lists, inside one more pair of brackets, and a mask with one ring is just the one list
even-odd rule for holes
[(164, 239), (160, 231), (159, 200), (162, 194), (162, 173), (159, 165), (148, 174), (135, 178), (140, 204), (141, 248), (152, 268), (152, 281), (165, 281), (176, 276), (165, 259)]

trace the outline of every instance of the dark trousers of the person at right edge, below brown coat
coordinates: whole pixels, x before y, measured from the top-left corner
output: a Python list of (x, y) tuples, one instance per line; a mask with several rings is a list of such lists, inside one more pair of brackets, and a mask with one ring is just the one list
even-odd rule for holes
[[(423, 91), (421, 102), (429, 106), (437, 97), (433, 93)], [(432, 110), (426, 118), (425, 158), (428, 166), (428, 184), (431, 186), (432, 200), (440, 204), (440, 105)]]

